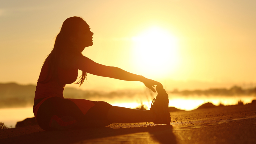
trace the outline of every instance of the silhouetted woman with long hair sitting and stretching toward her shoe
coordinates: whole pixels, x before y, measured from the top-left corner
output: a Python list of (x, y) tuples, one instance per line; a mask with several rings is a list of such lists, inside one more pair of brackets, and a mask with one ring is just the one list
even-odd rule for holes
[[(33, 111), (38, 125), (44, 130), (61, 130), (101, 127), (114, 122), (170, 123), (168, 95), (162, 84), (117, 67), (101, 65), (82, 55), (85, 47), (93, 45), (92, 36), (89, 25), (80, 17), (67, 18), (63, 22), (37, 82)], [(76, 83), (80, 86), (87, 73), (91, 73), (126, 81), (140, 81), (153, 92), (154, 85), (157, 85), (158, 94), (163, 93), (164, 96), (158, 96), (151, 110), (147, 111), (115, 107), (103, 101), (64, 98), (65, 84), (75, 82), (78, 69), (82, 71), (81, 79)]]

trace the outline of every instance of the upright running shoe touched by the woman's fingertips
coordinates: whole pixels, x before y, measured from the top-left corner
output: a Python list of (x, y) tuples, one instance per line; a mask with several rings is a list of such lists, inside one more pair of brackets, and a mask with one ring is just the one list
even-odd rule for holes
[(156, 114), (156, 119), (153, 122), (155, 124), (170, 124), (171, 115), (168, 110), (168, 94), (161, 86), (156, 86), (156, 90), (157, 97), (153, 99), (150, 108)]

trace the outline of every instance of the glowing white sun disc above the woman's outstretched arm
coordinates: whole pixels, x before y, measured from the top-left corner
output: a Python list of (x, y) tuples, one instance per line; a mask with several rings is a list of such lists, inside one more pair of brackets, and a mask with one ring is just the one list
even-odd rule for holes
[(133, 64), (147, 76), (167, 76), (178, 65), (177, 38), (167, 30), (151, 27), (132, 37)]

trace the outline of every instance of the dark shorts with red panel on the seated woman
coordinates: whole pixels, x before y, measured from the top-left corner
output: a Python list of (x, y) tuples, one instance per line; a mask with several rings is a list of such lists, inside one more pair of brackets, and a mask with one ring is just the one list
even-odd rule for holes
[(51, 97), (40, 104), (35, 117), (43, 130), (71, 129), (87, 122), (105, 121), (112, 107), (104, 101)]

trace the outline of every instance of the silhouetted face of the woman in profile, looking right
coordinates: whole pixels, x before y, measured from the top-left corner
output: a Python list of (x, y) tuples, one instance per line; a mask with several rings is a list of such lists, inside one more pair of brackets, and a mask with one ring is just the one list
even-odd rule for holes
[(92, 36), (93, 32), (90, 31), (90, 26), (85, 21), (81, 21), (75, 40), (75, 45), (80, 52), (82, 52), (85, 47), (93, 45)]

